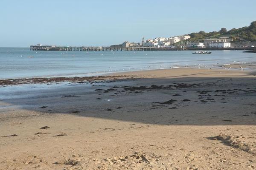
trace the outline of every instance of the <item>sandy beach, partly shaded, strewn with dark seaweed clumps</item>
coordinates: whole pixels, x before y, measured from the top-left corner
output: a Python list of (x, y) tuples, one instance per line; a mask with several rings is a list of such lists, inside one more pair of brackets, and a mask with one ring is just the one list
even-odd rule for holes
[[(0, 100), (0, 170), (256, 169), (255, 72), (176, 68), (65, 81)], [(1, 85), (58, 81), (12, 82)]]

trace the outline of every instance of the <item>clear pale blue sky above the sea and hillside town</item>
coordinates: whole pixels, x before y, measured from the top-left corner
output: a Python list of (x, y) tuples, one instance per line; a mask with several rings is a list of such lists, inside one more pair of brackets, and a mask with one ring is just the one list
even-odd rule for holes
[(1, 0), (0, 47), (112, 45), (249, 26), (255, 0)]

